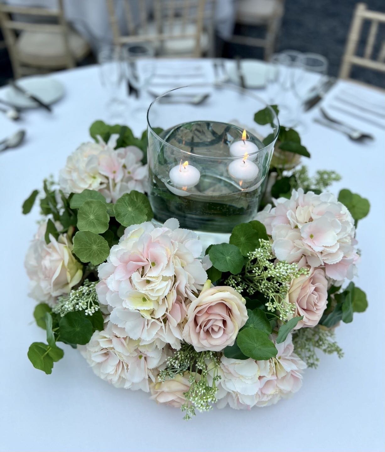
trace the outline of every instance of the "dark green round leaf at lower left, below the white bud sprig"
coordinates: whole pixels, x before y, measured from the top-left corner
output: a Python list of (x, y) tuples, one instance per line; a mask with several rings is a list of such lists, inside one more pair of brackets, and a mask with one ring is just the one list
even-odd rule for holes
[(60, 319), (59, 333), (71, 344), (86, 345), (92, 336), (92, 324), (81, 312), (68, 312)]

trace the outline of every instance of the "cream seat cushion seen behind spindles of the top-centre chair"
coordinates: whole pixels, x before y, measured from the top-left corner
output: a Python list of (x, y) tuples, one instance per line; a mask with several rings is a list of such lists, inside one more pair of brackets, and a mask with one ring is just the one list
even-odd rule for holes
[[(195, 38), (191, 35), (196, 33), (196, 25), (195, 24), (184, 24), (181, 20), (174, 20), (172, 24), (165, 24), (164, 26), (164, 34), (168, 35), (181, 35), (187, 34), (190, 36), (181, 37), (177, 39), (165, 39), (163, 42), (163, 55), (186, 55), (192, 54), (195, 50)], [(146, 30), (139, 30), (138, 34), (143, 35), (153, 35), (157, 34), (157, 28), (155, 22), (150, 22), (147, 26)], [(161, 48), (160, 43), (157, 44), (157, 49)], [(200, 35), (200, 49), (202, 52), (206, 52), (209, 48), (209, 35), (205, 31), (203, 31)]]

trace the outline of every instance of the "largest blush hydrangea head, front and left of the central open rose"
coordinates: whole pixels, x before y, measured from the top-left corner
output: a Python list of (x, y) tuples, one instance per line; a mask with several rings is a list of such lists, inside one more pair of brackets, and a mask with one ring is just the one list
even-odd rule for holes
[(142, 343), (160, 339), (179, 348), (186, 304), (207, 280), (201, 252), (197, 236), (179, 229), (175, 219), (162, 227), (150, 222), (129, 226), (99, 266), (96, 290), (114, 331)]

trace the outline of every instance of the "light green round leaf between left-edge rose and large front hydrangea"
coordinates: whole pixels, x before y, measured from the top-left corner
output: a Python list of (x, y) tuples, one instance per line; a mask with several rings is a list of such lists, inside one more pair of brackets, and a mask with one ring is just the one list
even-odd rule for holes
[(81, 262), (98, 265), (107, 259), (109, 246), (101, 235), (90, 231), (77, 231), (74, 236), (74, 253)]

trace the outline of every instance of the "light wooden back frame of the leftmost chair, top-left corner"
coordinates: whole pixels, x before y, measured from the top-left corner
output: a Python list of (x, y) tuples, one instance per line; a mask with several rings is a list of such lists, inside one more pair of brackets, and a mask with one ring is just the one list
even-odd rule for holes
[(68, 25), (64, 16), (63, 0), (57, 0), (56, 9), (14, 6), (0, 3), (0, 27), (10, 54), (14, 77), (39, 72), (23, 66), (18, 58), (16, 41), (22, 32), (61, 33), (66, 53), (66, 66), (75, 66), (68, 42)]

